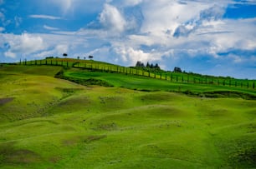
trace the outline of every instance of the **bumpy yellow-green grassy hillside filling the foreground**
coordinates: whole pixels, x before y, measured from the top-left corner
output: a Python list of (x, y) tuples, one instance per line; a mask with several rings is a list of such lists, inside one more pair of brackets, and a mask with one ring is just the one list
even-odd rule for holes
[(84, 87), (58, 71), (0, 67), (1, 168), (255, 167), (255, 101)]

